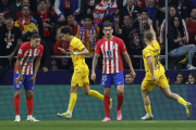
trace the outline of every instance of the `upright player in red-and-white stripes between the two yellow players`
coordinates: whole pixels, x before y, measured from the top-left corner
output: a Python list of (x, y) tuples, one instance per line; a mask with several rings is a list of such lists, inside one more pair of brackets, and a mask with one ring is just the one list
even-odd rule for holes
[(131, 76), (135, 78), (135, 72), (132, 67), (132, 62), (130, 55), (126, 52), (123, 40), (112, 36), (113, 29), (111, 24), (103, 25), (105, 38), (97, 42), (95, 50), (95, 55), (93, 60), (91, 69), (91, 80), (96, 79), (96, 65), (100, 53), (103, 56), (102, 60), (102, 78), (101, 86), (103, 87), (105, 99), (103, 106), (106, 112), (106, 117), (102, 121), (110, 121), (110, 89), (111, 82), (113, 80), (118, 90), (118, 107), (117, 107), (117, 120), (122, 119), (121, 106), (124, 100), (124, 75), (123, 75), (123, 64), (121, 60), (121, 52), (124, 55), (126, 63), (131, 69)]

